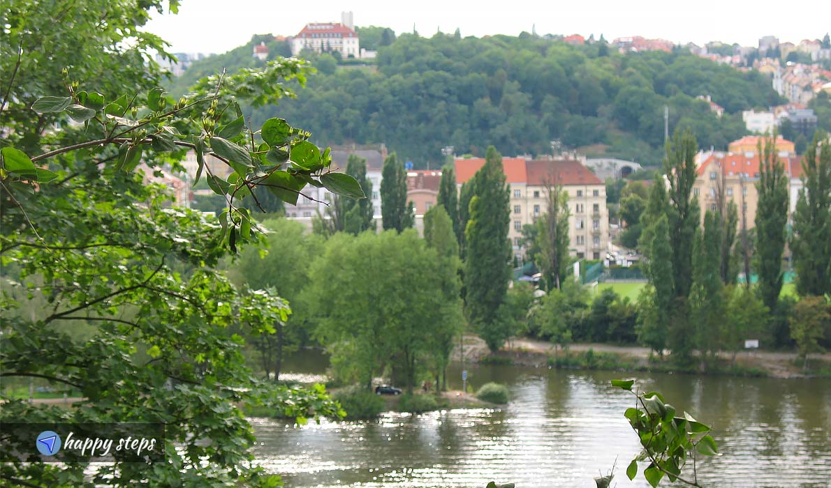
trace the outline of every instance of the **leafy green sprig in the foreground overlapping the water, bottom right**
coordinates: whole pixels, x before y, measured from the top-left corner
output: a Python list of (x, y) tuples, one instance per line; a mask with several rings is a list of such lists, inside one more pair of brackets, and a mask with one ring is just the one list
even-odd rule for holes
[[(627, 476), (634, 480), (640, 463), (648, 463), (643, 476), (653, 487), (658, 486), (666, 476), (669, 481), (680, 481), (689, 486), (701, 486), (696, 471), (696, 454), (718, 456), (718, 449), (711, 427), (696, 421), (689, 413), (683, 417), (676, 416), (676, 409), (664, 403), (661, 393), (638, 393), (632, 390), (633, 383), (612, 380), (612, 386), (632, 392), (635, 407), (629, 407), (623, 416), (629, 421), (637, 434), (641, 453), (627, 466)], [(686, 475), (685, 468), (692, 464), (692, 478)]]

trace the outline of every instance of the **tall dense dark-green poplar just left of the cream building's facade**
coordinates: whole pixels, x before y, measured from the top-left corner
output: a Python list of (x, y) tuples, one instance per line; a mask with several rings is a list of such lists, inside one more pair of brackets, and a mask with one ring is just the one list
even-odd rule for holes
[(475, 196), (470, 200), (470, 222), (465, 229), (465, 310), (470, 324), (495, 351), (509, 336), (509, 331), (499, 329), (497, 310), (508, 290), (511, 247), (509, 188), (502, 155), (493, 146), (474, 179)]

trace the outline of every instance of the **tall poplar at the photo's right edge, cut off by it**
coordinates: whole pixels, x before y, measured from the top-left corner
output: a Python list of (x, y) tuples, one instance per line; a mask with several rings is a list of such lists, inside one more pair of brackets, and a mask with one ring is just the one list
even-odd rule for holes
[(831, 294), (831, 144), (819, 133), (805, 151), (794, 212), (796, 290), (799, 295)]

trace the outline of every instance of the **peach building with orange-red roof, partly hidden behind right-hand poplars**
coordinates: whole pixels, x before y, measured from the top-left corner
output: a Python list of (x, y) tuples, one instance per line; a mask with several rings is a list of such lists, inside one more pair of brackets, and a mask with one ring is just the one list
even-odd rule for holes
[[(756, 182), (759, 180), (759, 156), (757, 154), (711, 153), (702, 154), (701, 163), (697, 168), (696, 183), (693, 184), (693, 196), (698, 198), (701, 207), (701, 222), (704, 222), (704, 213), (707, 210), (717, 210), (716, 197), (720, 191), (720, 181), (724, 178), (725, 198), (728, 202), (735, 202), (741, 222), (742, 207), (745, 208), (747, 227), (755, 227), (756, 207), (759, 203), (759, 193), (756, 192)], [(796, 200), (799, 197), (799, 188), (802, 182), (801, 158), (796, 156), (780, 157), (784, 163), (784, 171), (789, 178), (789, 208), (794, 212)], [(723, 176), (722, 176), (723, 173)]]

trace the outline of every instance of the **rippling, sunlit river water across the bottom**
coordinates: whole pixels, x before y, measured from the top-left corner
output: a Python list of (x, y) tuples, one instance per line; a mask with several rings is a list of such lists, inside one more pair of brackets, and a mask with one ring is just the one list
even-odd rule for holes
[[(314, 379), (326, 359), (305, 353), (287, 364), (290, 378)], [(255, 455), (286, 486), (464, 486), (488, 481), (535, 486), (595, 486), (616, 463), (620, 488), (649, 486), (626, 468), (639, 450), (622, 413), (631, 393), (609, 380), (636, 378), (681, 412), (711, 425), (722, 456), (698, 466), (715, 488), (831, 487), (831, 380), (614, 373), (515, 366), (467, 365), (474, 388), (508, 385), (499, 409), (421, 415), (389, 412), (374, 422), (321, 422), (293, 427), (251, 419)], [(449, 370), (461, 388), (461, 367)], [(641, 467), (642, 468), (645, 466)], [(691, 470), (691, 467), (690, 467)], [(691, 473), (690, 473), (691, 475)], [(667, 481), (661, 486), (672, 486)]]

